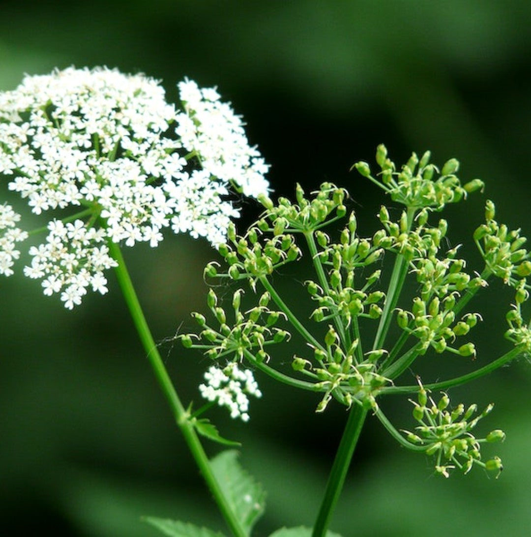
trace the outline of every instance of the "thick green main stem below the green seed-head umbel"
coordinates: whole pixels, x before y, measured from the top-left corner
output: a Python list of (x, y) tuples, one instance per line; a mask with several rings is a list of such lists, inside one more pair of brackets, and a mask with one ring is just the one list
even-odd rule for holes
[(328, 483), (315, 521), (312, 537), (324, 537), (326, 535), (366, 416), (367, 410), (358, 404), (353, 405), (350, 409), (349, 419), (346, 422), (345, 431), (343, 432), (340, 446), (337, 449), (334, 465), (328, 477)]

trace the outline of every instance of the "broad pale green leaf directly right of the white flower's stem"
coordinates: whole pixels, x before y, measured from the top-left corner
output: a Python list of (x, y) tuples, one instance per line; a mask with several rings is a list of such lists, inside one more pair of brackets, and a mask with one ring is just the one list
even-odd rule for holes
[(251, 528), (266, 507), (266, 492), (262, 485), (240, 466), (237, 459), (237, 451), (223, 451), (211, 460), (211, 466), (234, 513), (250, 534)]

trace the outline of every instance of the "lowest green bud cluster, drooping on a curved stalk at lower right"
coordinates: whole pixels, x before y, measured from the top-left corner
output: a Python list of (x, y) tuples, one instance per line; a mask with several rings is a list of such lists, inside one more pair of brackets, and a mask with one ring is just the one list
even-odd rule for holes
[(417, 399), (411, 403), (414, 405), (413, 417), (419, 425), (415, 427), (416, 432), (403, 432), (412, 444), (424, 447), (426, 455), (435, 457), (437, 474), (449, 477), (450, 471), (455, 468), (467, 474), (476, 464), (496, 472), (499, 476), (503, 470), (501, 459), (495, 456), (483, 462), (481, 444), (503, 441), (505, 433), (496, 429), (482, 439), (477, 439), (471, 433), (477, 423), (491, 412), (493, 404), (489, 404), (480, 415), (473, 417), (477, 412), (476, 404), (470, 405), (466, 410), (463, 404), (459, 404), (452, 410), (448, 395), (443, 393), (436, 403), (428, 396), (422, 384)]

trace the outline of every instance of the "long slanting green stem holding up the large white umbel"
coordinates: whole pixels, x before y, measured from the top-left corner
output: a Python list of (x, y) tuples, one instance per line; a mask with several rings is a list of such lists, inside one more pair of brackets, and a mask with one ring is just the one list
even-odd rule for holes
[(210, 462), (208, 460), (207, 454), (205, 453), (203, 446), (197, 434), (194, 430), (194, 427), (190, 424), (188, 412), (183, 407), (177, 392), (173, 386), (171, 379), (169, 378), (164, 362), (160, 357), (160, 353), (157, 349), (157, 345), (154, 342), (153, 336), (149, 329), (148, 323), (144, 317), (144, 313), (138, 301), (138, 297), (135, 292), (135, 288), (132, 285), (129, 272), (127, 271), (126, 264), (124, 262), (122, 252), (118, 245), (114, 244), (112, 241), (108, 242), (109, 250), (113, 258), (118, 263), (116, 267), (116, 276), (119, 281), (120, 287), (124, 299), (126, 300), (129, 312), (131, 314), (132, 320), (135, 324), (138, 336), (142, 342), (148, 360), (153, 368), (153, 372), (157, 378), (157, 381), (160, 385), (160, 388), (163, 390), (163, 393), (166, 397), (166, 400), (171, 408), (175, 421), (179, 426), (185, 441), (190, 449), (191, 454), (193, 455), (197, 466), (199, 467), (201, 474), (205, 482), (210, 489), (212, 496), (214, 497), (220, 512), (223, 515), (228, 527), (230, 527), (233, 535), (235, 537), (248, 537), (247, 532), (241, 526), (240, 521), (235, 516), (234, 512), (231, 509), (230, 503), (227, 498), (223, 495), (222, 488), (220, 488), (219, 483), (216, 480), (215, 475), (212, 472), (210, 467)]

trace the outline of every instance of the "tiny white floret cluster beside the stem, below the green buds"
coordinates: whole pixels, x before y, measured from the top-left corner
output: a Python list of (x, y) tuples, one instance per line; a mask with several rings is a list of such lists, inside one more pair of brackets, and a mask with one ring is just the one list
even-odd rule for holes
[(209, 367), (204, 374), (205, 384), (200, 384), (201, 395), (207, 401), (217, 401), (220, 407), (230, 410), (231, 418), (249, 420), (249, 398), (254, 395), (262, 397), (262, 392), (249, 369), (240, 369), (236, 362), (231, 362), (225, 368)]

